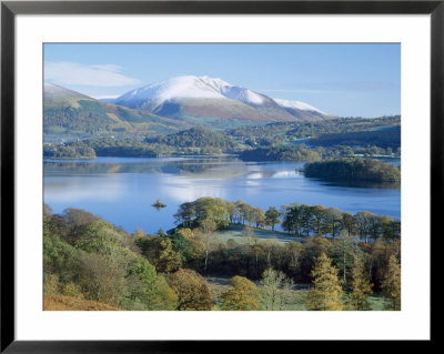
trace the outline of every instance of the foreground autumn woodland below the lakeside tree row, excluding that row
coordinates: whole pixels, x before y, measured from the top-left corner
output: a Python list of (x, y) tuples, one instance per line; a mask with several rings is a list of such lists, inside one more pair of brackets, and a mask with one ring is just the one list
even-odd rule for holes
[[(211, 219), (147, 235), (77, 209), (46, 206), (43, 216), (46, 294), (123, 310), (285, 310), (294, 301), (307, 310), (370, 310), (369, 296), (382, 292), (387, 309), (400, 310), (398, 240), (365, 244), (344, 234), (281, 244), (246, 231), (249, 242), (224, 244)], [(200, 273), (230, 275), (230, 286), (215, 296)], [(311, 283), (302, 300), (294, 282)]]

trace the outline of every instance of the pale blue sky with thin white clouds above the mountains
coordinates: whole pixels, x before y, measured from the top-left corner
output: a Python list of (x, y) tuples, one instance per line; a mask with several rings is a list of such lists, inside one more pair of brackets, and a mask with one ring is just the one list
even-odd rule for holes
[(94, 98), (186, 74), (341, 117), (401, 112), (400, 44), (44, 44), (44, 80)]

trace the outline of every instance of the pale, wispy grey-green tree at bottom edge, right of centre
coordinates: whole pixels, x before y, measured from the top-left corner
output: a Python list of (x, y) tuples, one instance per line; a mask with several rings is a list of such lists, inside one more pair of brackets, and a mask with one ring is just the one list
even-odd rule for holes
[(283, 310), (292, 287), (292, 282), (284, 273), (271, 267), (266, 269), (261, 279), (260, 299), (266, 311)]

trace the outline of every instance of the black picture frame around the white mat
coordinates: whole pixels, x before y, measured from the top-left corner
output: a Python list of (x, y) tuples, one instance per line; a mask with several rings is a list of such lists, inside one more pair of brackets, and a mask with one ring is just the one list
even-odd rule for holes
[[(2, 1), (1, 2), (1, 352), (6, 353), (211, 353), (251, 348), (244, 341), (24, 342), (14, 332), (14, 18), (18, 14), (430, 14), (431, 16), (431, 230), (442, 236), (444, 170), (444, 0), (440, 1)], [(436, 259), (431, 247), (432, 263)], [(431, 269), (433, 271), (433, 267)], [(431, 272), (431, 274), (433, 274)], [(432, 284), (432, 282), (431, 282)], [(432, 289), (433, 290), (433, 289)], [(433, 311), (431, 312), (431, 318)], [(432, 344), (431, 341), (421, 342)], [(281, 342), (282, 343), (282, 342)], [(340, 342), (323, 341), (329, 348)], [(376, 343), (369, 343), (373, 346)], [(386, 345), (386, 344), (385, 344)], [(411, 343), (408, 345), (412, 345)], [(275, 343), (260, 344), (275, 350)]]

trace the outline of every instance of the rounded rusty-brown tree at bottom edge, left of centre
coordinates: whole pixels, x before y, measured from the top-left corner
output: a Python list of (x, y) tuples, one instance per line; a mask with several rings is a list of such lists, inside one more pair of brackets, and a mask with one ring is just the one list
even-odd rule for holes
[(179, 270), (168, 275), (168, 284), (178, 296), (178, 310), (209, 311), (213, 299), (206, 282), (192, 270)]

